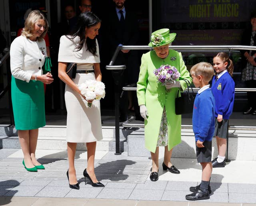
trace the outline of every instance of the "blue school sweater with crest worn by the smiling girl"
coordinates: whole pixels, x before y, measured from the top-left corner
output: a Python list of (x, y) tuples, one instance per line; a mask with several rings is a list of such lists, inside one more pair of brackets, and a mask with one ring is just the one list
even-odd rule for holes
[(212, 94), (215, 99), (215, 117), (223, 115), (223, 119), (228, 120), (233, 111), (235, 99), (235, 82), (229, 73), (224, 73), (215, 82), (216, 77), (212, 78)]

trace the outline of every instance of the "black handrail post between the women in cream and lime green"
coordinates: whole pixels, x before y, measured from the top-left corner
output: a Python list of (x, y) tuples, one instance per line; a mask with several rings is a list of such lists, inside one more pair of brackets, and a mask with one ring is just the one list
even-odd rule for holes
[(107, 70), (112, 71), (112, 76), (115, 83), (115, 139), (116, 139), (116, 153), (115, 155), (121, 155), (120, 153), (120, 133), (119, 133), (119, 80), (122, 77), (122, 72), (126, 69), (125, 65), (107, 65)]

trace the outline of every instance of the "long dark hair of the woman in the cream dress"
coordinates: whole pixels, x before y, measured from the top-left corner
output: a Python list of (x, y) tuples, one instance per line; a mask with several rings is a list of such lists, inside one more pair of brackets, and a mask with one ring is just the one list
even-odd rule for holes
[[(95, 26), (99, 22), (101, 22), (100, 19), (92, 12), (85, 12), (85, 13), (82, 13), (79, 15), (76, 26), (73, 29), (73, 31), (70, 33), (71, 38), (66, 36), (69, 39), (74, 39), (77, 36), (80, 37), (80, 42), (78, 43), (78, 45), (76, 47), (77, 51), (80, 51), (84, 46), (85, 28)], [(94, 39), (87, 38), (86, 46), (87, 46), (88, 51), (90, 51), (93, 55), (96, 55), (96, 38), (94, 38)]]

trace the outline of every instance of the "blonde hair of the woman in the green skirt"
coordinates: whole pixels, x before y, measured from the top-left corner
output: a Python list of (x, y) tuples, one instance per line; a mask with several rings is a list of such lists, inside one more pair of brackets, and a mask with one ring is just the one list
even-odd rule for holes
[(25, 21), (25, 26), (22, 29), (21, 35), (27, 38), (31, 37), (33, 35), (36, 22), (41, 19), (44, 20), (45, 29), (42, 35), (40, 37), (37, 37), (37, 39), (38, 40), (44, 39), (44, 36), (46, 35), (49, 26), (48, 26), (48, 21), (46, 20), (44, 14), (42, 14), (39, 10), (34, 10), (28, 14), (28, 18)]

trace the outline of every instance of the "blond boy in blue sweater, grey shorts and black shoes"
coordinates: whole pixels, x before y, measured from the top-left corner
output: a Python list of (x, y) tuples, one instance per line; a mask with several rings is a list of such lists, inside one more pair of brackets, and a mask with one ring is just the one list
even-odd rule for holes
[(194, 101), (192, 116), (193, 131), (196, 139), (196, 157), (202, 166), (201, 184), (190, 187), (192, 194), (186, 195), (187, 200), (205, 200), (210, 198), (210, 178), (212, 175), (212, 137), (214, 135), (214, 97), (209, 81), (214, 75), (211, 64), (200, 62), (190, 69), (193, 83), (199, 87)]

